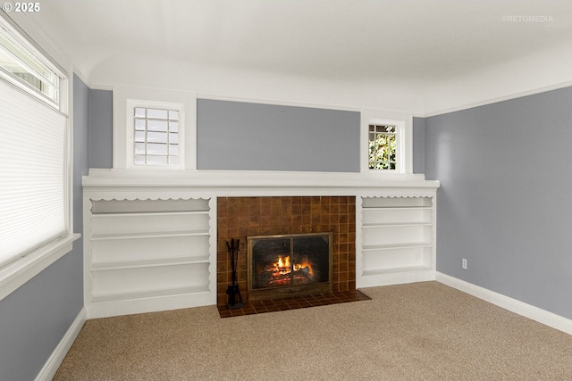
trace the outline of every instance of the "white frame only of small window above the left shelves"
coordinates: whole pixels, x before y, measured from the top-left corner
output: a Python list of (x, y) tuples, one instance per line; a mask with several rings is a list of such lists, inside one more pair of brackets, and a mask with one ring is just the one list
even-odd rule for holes
[[(180, 165), (136, 165), (134, 163), (135, 107), (172, 109), (180, 112)], [(197, 169), (197, 95), (160, 90), (114, 88), (114, 169), (196, 170)]]

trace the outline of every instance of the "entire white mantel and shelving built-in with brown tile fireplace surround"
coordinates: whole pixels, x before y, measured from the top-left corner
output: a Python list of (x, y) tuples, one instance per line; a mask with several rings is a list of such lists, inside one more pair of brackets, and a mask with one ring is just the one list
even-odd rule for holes
[(377, 173), (89, 170), (83, 186), (88, 319), (225, 305), (226, 242), (332, 232), (332, 291), (434, 280), (438, 181)]

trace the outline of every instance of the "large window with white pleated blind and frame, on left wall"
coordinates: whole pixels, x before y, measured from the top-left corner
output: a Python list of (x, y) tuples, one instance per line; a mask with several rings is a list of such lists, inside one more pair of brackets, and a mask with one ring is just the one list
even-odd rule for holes
[(71, 249), (63, 70), (0, 18), (0, 299)]

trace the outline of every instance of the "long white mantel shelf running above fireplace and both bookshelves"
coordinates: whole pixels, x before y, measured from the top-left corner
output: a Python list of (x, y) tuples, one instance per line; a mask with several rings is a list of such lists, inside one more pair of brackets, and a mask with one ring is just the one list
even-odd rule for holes
[[(374, 173), (89, 170), (84, 191), (122, 193), (199, 193), (210, 195), (364, 195), (416, 196), (434, 192), (439, 181), (424, 175)], [(163, 198), (163, 196), (160, 196)]]

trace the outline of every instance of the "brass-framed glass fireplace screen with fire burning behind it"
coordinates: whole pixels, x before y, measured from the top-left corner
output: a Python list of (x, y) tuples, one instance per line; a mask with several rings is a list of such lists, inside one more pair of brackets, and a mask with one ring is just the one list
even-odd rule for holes
[(332, 291), (332, 233), (248, 236), (250, 301)]

